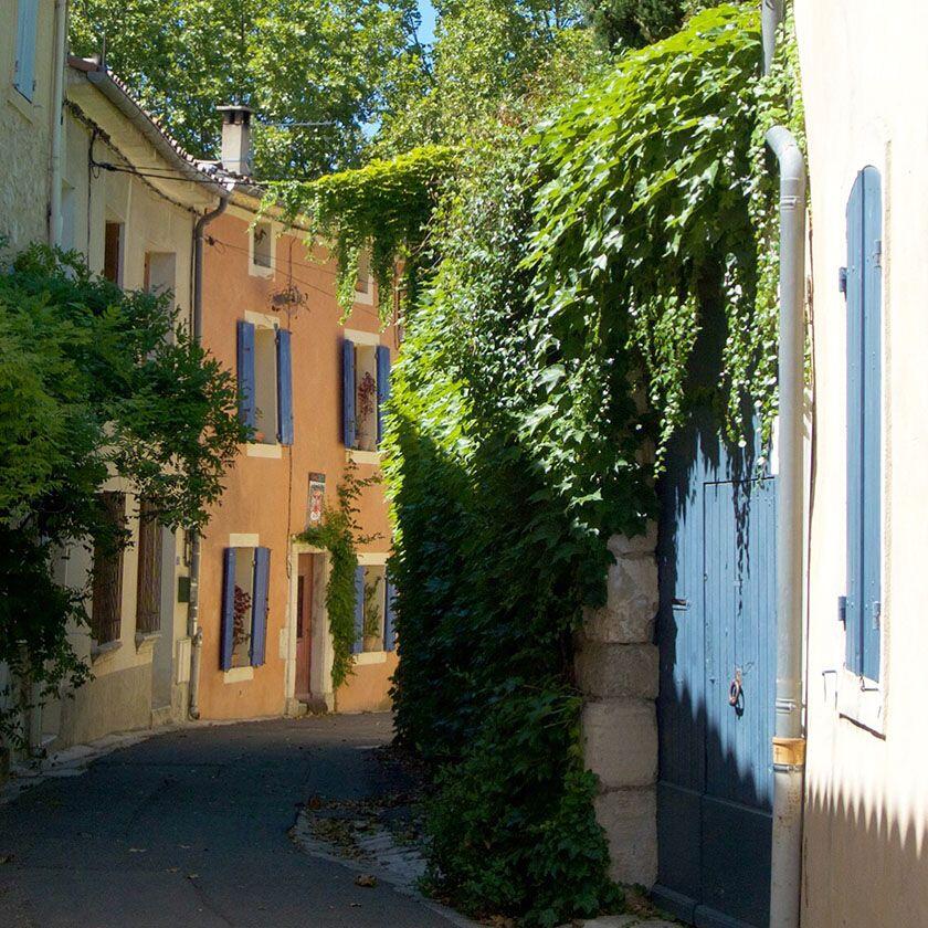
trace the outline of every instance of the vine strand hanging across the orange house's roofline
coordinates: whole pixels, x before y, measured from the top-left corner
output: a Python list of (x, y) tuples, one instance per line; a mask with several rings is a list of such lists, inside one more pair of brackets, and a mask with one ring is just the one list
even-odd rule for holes
[[(380, 315), (390, 317), (393, 293), (414, 297), (421, 249), (442, 180), (451, 172), (455, 152), (423, 146), (363, 168), (326, 175), (312, 182), (272, 184), (265, 199), (282, 208), (285, 220), (309, 219), (310, 242), (334, 242), (338, 263), (337, 296), (345, 314), (355, 304), (358, 260), (370, 251), (371, 273), (378, 285)], [(398, 281), (397, 268), (402, 267)]]

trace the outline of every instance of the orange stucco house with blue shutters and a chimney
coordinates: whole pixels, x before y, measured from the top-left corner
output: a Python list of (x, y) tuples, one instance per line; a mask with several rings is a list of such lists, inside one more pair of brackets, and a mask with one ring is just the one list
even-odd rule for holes
[(335, 503), (346, 467), (361, 478), (379, 473), (398, 333), (381, 327), (367, 272), (342, 324), (327, 251), (309, 254), (305, 233), (273, 214), (256, 219), (263, 191), (247, 179), (251, 114), (229, 107), (224, 117), (222, 161), (208, 170), (229, 196), (202, 229), (199, 326), (203, 346), (238, 373), (253, 441), (226, 475), (200, 541), (193, 714), (388, 708), (397, 655), (382, 487), (367, 487), (359, 503), (362, 532), (377, 540), (359, 550), (355, 668), (337, 690), (327, 553), (296, 536), (324, 502)]

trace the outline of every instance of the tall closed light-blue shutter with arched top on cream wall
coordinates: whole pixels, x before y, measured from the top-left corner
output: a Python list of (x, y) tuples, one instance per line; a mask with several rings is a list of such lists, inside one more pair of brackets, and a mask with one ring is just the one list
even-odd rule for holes
[(882, 238), (879, 172), (847, 201), (847, 667), (879, 679), (882, 621)]

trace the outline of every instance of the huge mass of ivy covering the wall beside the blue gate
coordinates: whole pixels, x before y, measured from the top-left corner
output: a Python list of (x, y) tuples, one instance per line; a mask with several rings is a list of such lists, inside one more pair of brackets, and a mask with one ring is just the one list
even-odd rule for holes
[(789, 43), (760, 77), (759, 25), (720, 4), (530, 133), (487, 128), (415, 225), (431, 273), (386, 435), (396, 724), (433, 769), (429, 879), (475, 915), (553, 926), (619, 904), (574, 634), (690, 410), (730, 436), (776, 412), (763, 136), (801, 109)]

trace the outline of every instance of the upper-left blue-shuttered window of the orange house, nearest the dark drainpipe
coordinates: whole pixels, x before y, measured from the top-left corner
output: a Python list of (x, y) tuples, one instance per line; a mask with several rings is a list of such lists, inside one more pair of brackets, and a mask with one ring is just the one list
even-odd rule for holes
[(291, 334), (242, 320), (238, 333), (239, 415), (260, 444), (293, 444)]

